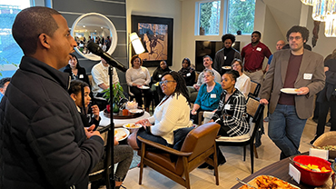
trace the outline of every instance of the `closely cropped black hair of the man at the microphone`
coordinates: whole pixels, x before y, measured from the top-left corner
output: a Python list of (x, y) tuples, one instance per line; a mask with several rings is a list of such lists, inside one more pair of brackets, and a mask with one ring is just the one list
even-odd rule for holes
[(61, 14), (44, 6), (32, 6), (16, 15), (12, 26), (12, 34), (25, 55), (36, 53), (39, 35), (54, 35), (58, 25), (53, 15)]

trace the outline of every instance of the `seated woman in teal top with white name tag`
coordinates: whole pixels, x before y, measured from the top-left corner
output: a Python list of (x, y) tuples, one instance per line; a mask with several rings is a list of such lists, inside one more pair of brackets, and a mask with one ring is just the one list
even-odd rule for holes
[(198, 123), (198, 112), (200, 111), (216, 111), (221, 100), (222, 86), (214, 82), (214, 74), (212, 70), (205, 69), (203, 71), (205, 84), (201, 85), (197, 98), (193, 104), (191, 119), (193, 124)]

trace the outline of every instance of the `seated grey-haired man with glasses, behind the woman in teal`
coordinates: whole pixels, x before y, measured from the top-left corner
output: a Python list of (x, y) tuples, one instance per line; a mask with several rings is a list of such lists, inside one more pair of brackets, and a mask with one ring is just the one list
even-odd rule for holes
[[(214, 82), (221, 83), (221, 75), (214, 69), (212, 69), (212, 57), (209, 55), (203, 56), (203, 65), (205, 69), (212, 70), (214, 74)], [(201, 85), (205, 84), (204, 75), (201, 73), (198, 75), (197, 84), (193, 86), (187, 86), (190, 93), (190, 101), (193, 103), (197, 98), (198, 91), (200, 90)]]

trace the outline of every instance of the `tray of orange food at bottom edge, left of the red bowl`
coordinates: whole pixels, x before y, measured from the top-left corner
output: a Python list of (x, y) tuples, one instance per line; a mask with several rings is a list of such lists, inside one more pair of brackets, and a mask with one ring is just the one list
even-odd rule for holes
[[(256, 188), (286, 188), (286, 189), (300, 189), (300, 187), (282, 181), (281, 179), (271, 175), (260, 175), (252, 179), (247, 184), (251, 184)], [(244, 184), (239, 189), (252, 189), (252, 187)]]

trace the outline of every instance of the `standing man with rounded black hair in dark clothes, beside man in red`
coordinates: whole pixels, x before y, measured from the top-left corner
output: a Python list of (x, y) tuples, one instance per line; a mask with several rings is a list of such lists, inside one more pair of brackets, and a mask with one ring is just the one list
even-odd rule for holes
[(226, 70), (222, 69), (222, 66), (230, 66), (234, 58), (238, 58), (242, 60), (241, 54), (234, 48), (232, 48), (232, 44), (235, 42), (235, 36), (231, 34), (222, 35), (222, 43), (224, 44), (224, 48), (217, 51), (214, 56), (213, 68), (223, 75)]

